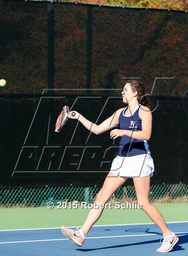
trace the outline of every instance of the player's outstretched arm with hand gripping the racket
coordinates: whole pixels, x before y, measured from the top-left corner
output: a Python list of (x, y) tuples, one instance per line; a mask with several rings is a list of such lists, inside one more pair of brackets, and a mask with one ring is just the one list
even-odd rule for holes
[(74, 111), (74, 112), (76, 112), (76, 115), (74, 117), (71, 116), (72, 111), (68, 114), (68, 117), (72, 118), (72, 119), (78, 119), (82, 123), (82, 125), (85, 126), (86, 129), (88, 129), (91, 132), (93, 132), (94, 134), (98, 135), (107, 130), (110, 130), (113, 127), (116, 127), (119, 124), (119, 115), (122, 110), (123, 110), (123, 108), (120, 108), (117, 111), (115, 111), (111, 115), (111, 117), (108, 117), (100, 125), (96, 125), (93, 122), (87, 120), (85, 117), (83, 117), (77, 111)]

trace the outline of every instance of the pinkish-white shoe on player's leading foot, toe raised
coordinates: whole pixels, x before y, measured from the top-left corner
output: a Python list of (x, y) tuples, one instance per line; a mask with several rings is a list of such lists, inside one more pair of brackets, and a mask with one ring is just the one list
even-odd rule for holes
[(82, 246), (82, 244), (85, 241), (85, 238), (82, 238), (80, 234), (79, 228), (77, 228), (76, 230), (73, 230), (73, 229), (68, 229), (65, 226), (62, 226), (61, 232), (64, 234), (66, 238), (70, 239), (77, 246)]

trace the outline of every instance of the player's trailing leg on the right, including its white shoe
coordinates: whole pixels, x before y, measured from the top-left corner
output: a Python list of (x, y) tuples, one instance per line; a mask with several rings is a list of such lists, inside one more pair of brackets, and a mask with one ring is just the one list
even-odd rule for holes
[(150, 175), (145, 177), (133, 178), (136, 194), (137, 194), (137, 203), (142, 204), (142, 210), (150, 217), (151, 220), (161, 229), (163, 234), (163, 243), (159, 247), (157, 252), (170, 252), (173, 246), (178, 242), (178, 237), (172, 232), (162, 214), (152, 203), (150, 203)]

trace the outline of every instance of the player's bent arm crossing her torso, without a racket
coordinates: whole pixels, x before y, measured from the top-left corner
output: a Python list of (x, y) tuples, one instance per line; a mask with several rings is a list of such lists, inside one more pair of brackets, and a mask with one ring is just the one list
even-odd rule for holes
[(142, 121), (142, 130), (141, 131), (132, 131), (132, 130), (111, 130), (111, 138), (115, 139), (119, 136), (127, 135), (134, 139), (139, 140), (149, 140), (151, 137), (152, 131), (152, 114), (150, 108), (146, 106), (141, 106), (140, 109), (140, 117)]

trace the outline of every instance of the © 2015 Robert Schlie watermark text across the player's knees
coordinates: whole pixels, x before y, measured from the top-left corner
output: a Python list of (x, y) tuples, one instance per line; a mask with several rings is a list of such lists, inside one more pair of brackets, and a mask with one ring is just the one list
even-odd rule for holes
[[(120, 203), (120, 202), (115, 202), (114, 203), (114, 208), (115, 209), (141, 209), (142, 205), (141, 203), (137, 202), (126, 202), (126, 203)], [(112, 203), (106, 203), (106, 204), (98, 204), (96, 202), (94, 203), (87, 203), (87, 202), (47, 202), (47, 208), (48, 209), (112, 209)]]

